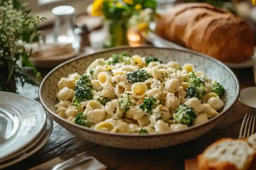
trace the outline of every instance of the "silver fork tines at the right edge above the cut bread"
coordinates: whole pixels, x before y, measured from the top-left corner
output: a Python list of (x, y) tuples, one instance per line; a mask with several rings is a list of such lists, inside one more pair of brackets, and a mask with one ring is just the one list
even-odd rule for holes
[[(249, 127), (247, 129), (249, 120), (250, 120), (250, 123), (249, 123)], [(253, 126), (251, 127), (252, 121), (253, 121)], [(245, 128), (244, 128), (244, 125), (245, 125)], [(254, 133), (254, 125), (255, 125), (255, 115), (250, 115), (250, 114), (246, 113), (243, 123), (241, 125), (240, 132), (239, 132), (239, 138), (247, 138), (250, 135), (252, 135)]]

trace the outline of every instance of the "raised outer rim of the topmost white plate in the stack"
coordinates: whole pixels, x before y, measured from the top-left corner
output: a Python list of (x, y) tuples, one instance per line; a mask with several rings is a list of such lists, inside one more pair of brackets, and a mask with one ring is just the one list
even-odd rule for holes
[[(16, 96), (16, 97), (23, 97), (23, 98), (26, 98), (26, 99), (28, 99), (28, 100), (30, 100), (30, 101), (32, 100), (33, 102), (37, 103), (38, 106), (41, 107), (40, 110), (42, 110), (43, 112), (45, 112), (44, 107), (43, 107), (39, 102), (37, 102), (36, 100), (34, 100), (34, 99), (32, 99), (32, 98), (29, 98), (29, 97), (26, 97), (26, 96), (24, 96), (24, 95), (17, 94), (17, 93), (7, 92), (7, 91), (0, 91), (0, 95), (1, 95), (1, 93), (7, 94), (7, 95), (14, 95), (14, 96)], [(3, 154), (2, 156), (0, 156), (0, 158), (3, 159), (3, 158), (5, 158), (5, 157), (7, 157), (7, 156), (10, 156), (11, 154), (14, 154), (15, 152), (17, 152), (18, 150), (20, 150), (20, 149), (26, 147), (29, 143), (33, 142), (33, 140), (35, 140), (35, 138), (40, 134), (40, 132), (42, 132), (42, 130), (43, 130), (44, 126), (45, 126), (46, 121), (47, 121), (47, 116), (44, 114), (44, 116), (43, 116), (43, 122), (42, 122), (42, 124), (40, 125), (39, 129), (37, 130), (36, 134), (35, 134), (30, 140), (24, 142), (23, 145), (20, 145), (20, 147), (18, 147), (17, 149), (14, 149), (12, 152), (9, 152), (8, 154)]]

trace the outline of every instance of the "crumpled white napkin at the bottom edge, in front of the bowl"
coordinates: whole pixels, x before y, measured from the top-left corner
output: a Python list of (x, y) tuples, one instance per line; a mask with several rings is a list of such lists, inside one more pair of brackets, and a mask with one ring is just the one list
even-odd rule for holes
[[(79, 163), (81, 162), (81, 163)], [(87, 155), (85, 152), (77, 154), (77, 156), (69, 159), (62, 160), (60, 157), (54, 158), (41, 165), (33, 167), (29, 170), (63, 170), (69, 168), (71, 164), (76, 163), (78, 166), (71, 166), (72, 170), (105, 170), (106, 166), (99, 162), (92, 156)]]

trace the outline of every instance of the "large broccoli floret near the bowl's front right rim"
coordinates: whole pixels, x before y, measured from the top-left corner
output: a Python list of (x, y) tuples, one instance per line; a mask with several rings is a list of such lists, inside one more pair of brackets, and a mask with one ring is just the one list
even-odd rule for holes
[(172, 118), (177, 123), (185, 124), (187, 126), (192, 126), (193, 122), (196, 118), (196, 114), (195, 114), (193, 108), (191, 108), (185, 104), (182, 104), (172, 115)]

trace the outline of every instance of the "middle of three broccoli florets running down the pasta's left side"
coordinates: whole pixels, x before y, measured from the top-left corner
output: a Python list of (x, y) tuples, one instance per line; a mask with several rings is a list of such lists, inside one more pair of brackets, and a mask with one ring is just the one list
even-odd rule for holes
[(73, 105), (77, 106), (79, 103), (86, 100), (91, 100), (92, 98), (92, 88), (88, 85), (82, 85), (77, 87), (75, 91), (75, 97), (73, 98), (72, 102)]

